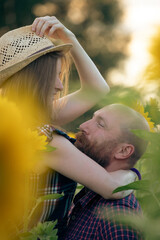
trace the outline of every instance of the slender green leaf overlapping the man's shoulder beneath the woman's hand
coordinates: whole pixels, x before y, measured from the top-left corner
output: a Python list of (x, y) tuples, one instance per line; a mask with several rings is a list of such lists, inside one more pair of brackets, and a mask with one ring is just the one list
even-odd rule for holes
[(140, 180), (140, 181), (136, 181), (136, 182), (133, 182), (133, 183), (129, 183), (125, 186), (121, 186), (121, 187), (118, 187), (116, 188), (113, 193), (117, 193), (117, 192), (121, 192), (121, 191), (125, 191), (125, 190), (143, 190), (143, 191), (148, 191), (150, 192), (149, 190), (149, 181), (147, 180)]

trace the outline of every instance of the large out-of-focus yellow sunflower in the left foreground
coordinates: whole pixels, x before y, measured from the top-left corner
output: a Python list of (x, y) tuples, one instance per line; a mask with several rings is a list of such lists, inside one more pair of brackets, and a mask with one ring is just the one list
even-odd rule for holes
[(0, 239), (8, 240), (24, 211), (26, 176), (47, 142), (45, 136), (25, 128), (17, 106), (1, 96), (0, 113)]

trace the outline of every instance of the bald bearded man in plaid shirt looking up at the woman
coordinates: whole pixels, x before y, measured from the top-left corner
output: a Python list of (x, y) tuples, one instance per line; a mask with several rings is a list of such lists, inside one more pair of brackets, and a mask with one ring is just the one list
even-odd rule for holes
[[(121, 104), (109, 105), (80, 125), (75, 146), (108, 172), (130, 169), (147, 146), (144, 140), (132, 134), (131, 129), (149, 131), (149, 126), (143, 116), (131, 108)], [(120, 200), (105, 200), (83, 188), (74, 199), (68, 228), (62, 239), (141, 239), (138, 230), (116, 223), (117, 215), (128, 213), (140, 213), (133, 194)]]

